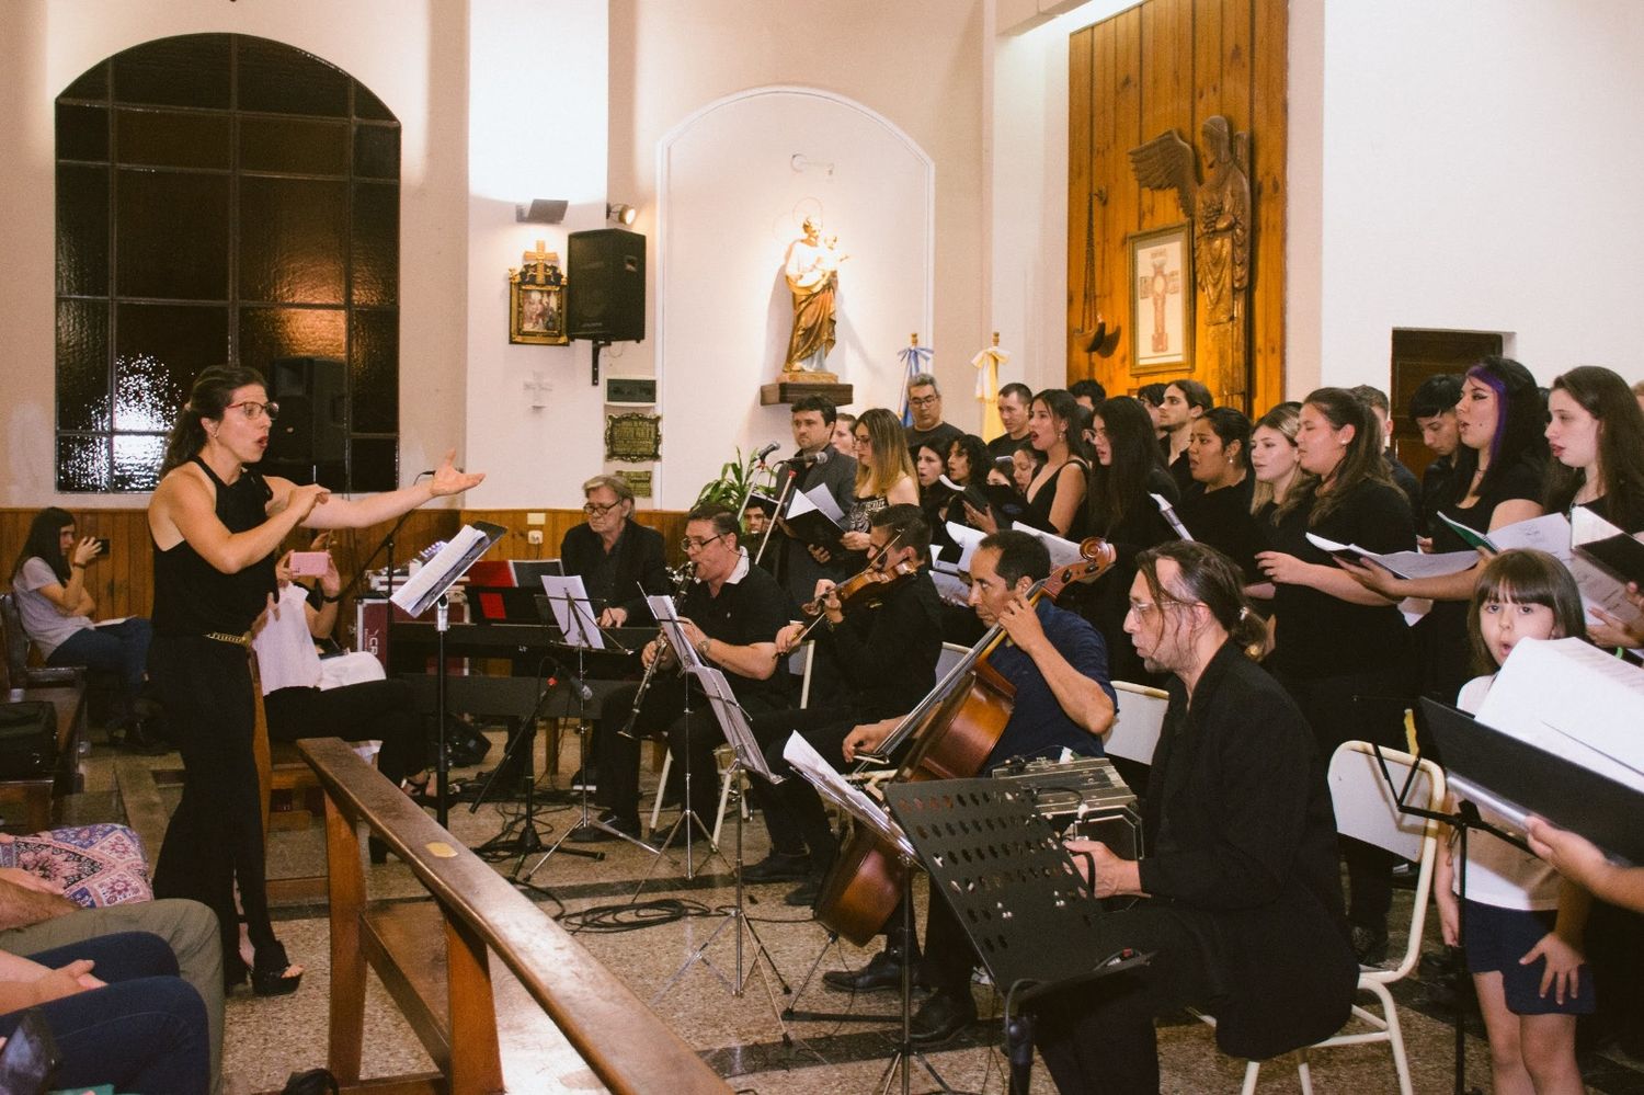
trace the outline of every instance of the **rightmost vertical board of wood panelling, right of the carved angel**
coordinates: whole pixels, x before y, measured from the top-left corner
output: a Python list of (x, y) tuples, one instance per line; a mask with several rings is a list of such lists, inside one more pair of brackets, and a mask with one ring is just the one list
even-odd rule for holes
[(1251, 301), (1251, 409), (1258, 414), (1284, 398), (1284, 178), (1289, 128), (1289, 8), (1284, 0), (1256, 0), (1251, 8), (1251, 146), (1256, 184), (1256, 240)]

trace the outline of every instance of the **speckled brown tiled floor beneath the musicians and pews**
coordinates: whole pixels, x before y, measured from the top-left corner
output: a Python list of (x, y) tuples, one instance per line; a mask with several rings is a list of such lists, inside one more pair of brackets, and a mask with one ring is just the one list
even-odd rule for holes
[[(562, 771), (575, 768), (575, 746), (566, 748)], [(82, 814), (104, 815), (118, 811), (120, 801), (109, 794), (112, 768), (99, 748), (90, 763), (89, 791), (77, 809)], [(493, 750), (495, 756), (495, 750)], [(176, 768), (176, 758), (145, 761), (148, 766)], [(543, 769), (541, 751), (538, 769)], [(561, 784), (564, 779), (561, 778)], [(159, 825), (164, 809), (174, 802), (174, 789), (161, 788), (158, 809), (146, 814), (136, 811), (135, 819), (143, 829), (150, 848), (158, 848)], [(575, 819), (567, 796), (551, 794), (539, 804), (536, 825), (546, 842), (557, 839), (564, 825)], [(465, 804), (450, 814), (450, 830), (470, 847), (498, 835), (506, 820), (520, 814), (518, 802), (501, 807), (482, 806), (470, 812)], [(671, 814), (664, 815), (664, 824)], [(745, 830), (746, 860), (751, 863), (766, 852), (764, 829), (758, 817)], [(732, 853), (733, 825), (727, 819), (725, 845)], [(613, 919), (631, 921), (649, 916), (646, 926), (620, 932), (580, 931), (577, 939), (608, 968), (618, 973), (641, 998), (661, 1014), (712, 1067), (730, 1082), (737, 1092), (804, 1092), (824, 1095), (832, 1092), (870, 1092), (896, 1049), (898, 998), (894, 993), (852, 998), (834, 993), (814, 978), (802, 996), (799, 990), (807, 972), (820, 959), (819, 968), (857, 967), (870, 952), (850, 945), (827, 944), (820, 926), (799, 909), (783, 904), (787, 885), (750, 886), (746, 914), (769, 949), (776, 972), (753, 962), (753, 945), (743, 954), (746, 986), (737, 996), (720, 980), (733, 980), (737, 973), (735, 932), (730, 927), (707, 947), (709, 963), (686, 965), (709, 937), (722, 929), (723, 911), (735, 898), (730, 865), (720, 857), (700, 858), (697, 848), (697, 876), (686, 876), (681, 853), (661, 862), (626, 843), (598, 845), (605, 852), (600, 862), (556, 855), (538, 865), (533, 857), (528, 868), (531, 881), (543, 888), (538, 894), (551, 912), (585, 912), (592, 908), (628, 906), (636, 888), (641, 903), (671, 901), (679, 914), (653, 914), (644, 911), (613, 909)], [(316, 873), (324, 862), (319, 827), (304, 832), (276, 832), (271, 840), (271, 875)], [(518, 858), (498, 863), (511, 871)], [(643, 888), (641, 888), (643, 883)], [(373, 899), (416, 899), (423, 891), (408, 868), (398, 862), (368, 868), (368, 886)], [(1407, 922), (1409, 896), (1401, 891), (1399, 901)], [(919, 898), (922, 903), (922, 896)], [(286, 998), (256, 1000), (235, 996), (229, 1003), (225, 1075), (227, 1092), (278, 1090), (294, 1069), (307, 1069), (326, 1059), (326, 1001), (327, 1001), (327, 922), (324, 908), (298, 906), (276, 911), (276, 926), (293, 960), (302, 962), (309, 973), (302, 988)], [(1394, 919), (1401, 912), (1396, 909)], [(921, 916), (922, 922), (922, 916)], [(1394, 940), (1399, 944), (1401, 940)], [(709, 968), (712, 965), (712, 968)], [(718, 972), (718, 977), (715, 975)], [(506, 973), (506, 972), (503, 972)], [(677, 975), (677, 978), (676, 978)], [(506, 1072), (511, 1092), (585, 1092), (600, 1090), (598, 1080), (582, 1067), (574, 1052), (557, 1037), (557, 1031), (534, 1008), (511, 1010), (506, 1000), (523, 998), (523, 990), (506, 977), (500, 978), (498, 1011), (510, 1014), (523, 1011), (529, 1018), (501, 1031), (506, 1056)], [(990, 988), (975, 986), (983, 1016), (998, 1016), (998, 1000)], [(1396, 991), (1409, 1047), (1417, 1092), (1452, 1090), (1452, 1026), (1448, 1016), (1425, 1001), (1424, 988), (1406, 983)], [(916, 1000), (917, 1006), (917, 1000)], [(365, 1075), (393, 1075), (418, 1072), (431, 1064), (418, 1046), (411, 1029), (395, 1014), (386, 993), (372, 983), (367, 1005)], [(784, 1018), (794, 1008), (796, 1018)], [(815, 1013), (827, 1013), (819, 1018)], [(612, 1039), (623, 1039), (623, 1031), (610, 1031)], [(955, 1090), (1004, 1092), (1004, 1059), (998, 1052), (1001, 1031), (996, 1023), (981, 1021), (954, 1044), (929, 1054), (929, 1065)], [(1208, 1028), (1187, 1016), (1161, 1023), (1161, 1060), (1164, 1088), (1167, 1092), (1236, 1092), (1243, 1079), (1243, 1062), (1223, 1057), (1215, 1051)], [(1488, 1052), (1475, 1031), (1466, 1041), (1468, 1079), (1471, 1085), (1488, 1088)], [(1644, 1092), (1644, 1067), (1618, 1056), (1590, 1056), (1583, 1060), (1590, 1090), (1593, 1092)], [(1350, 1047), (1314, 1056), (1314, 1082), (1318, 1092), (1392, 1092), (1397, 1090), (1386, 1047)], [(937, 1083), (932, 1075), (916, 1065), (912, 1090), (931, 1092)], [(899, 1083), (896, 1083), (899, 1090)], [(1042, 1069), (1036, 1070), (1034, 1090), (1052, 1090)], [(1263, 1092), (1299, 1090), (1294, 1057), (1281, 1059), (1263, 1069)], [(661, 1095), (661, 1093), (659, 1093)]]

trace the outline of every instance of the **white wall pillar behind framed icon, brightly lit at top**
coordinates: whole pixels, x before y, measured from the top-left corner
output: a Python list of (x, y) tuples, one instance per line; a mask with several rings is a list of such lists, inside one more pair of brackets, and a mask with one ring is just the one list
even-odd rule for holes
[[(467, 460), (487, 475), (470, 506), (580, 505), (577, 485), (605, 470), (589, 344), (508, 344), (508, 270), (521, 253), (543, 240), (564, 270), (567, 233), (605, 227), (605, 8), (469, 3)], [(516, 224), (515, 204), (533, 197), (569, 201), (566, 220)], [(526, 391), (536, 378), (551, 386), (546, 406)]]

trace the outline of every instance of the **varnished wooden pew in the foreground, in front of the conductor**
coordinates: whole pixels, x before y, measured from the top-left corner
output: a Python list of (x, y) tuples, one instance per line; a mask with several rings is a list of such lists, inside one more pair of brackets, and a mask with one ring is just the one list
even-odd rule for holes
[[(345, 742), (309, 738), (298, 748), (326, 788), (327, 1067), (345, 1092), (505, 1090), (490, 954), (513, 972), (608, 1090), (730, 1092), (616, 975)], [(360, 824), (388, 843), (432, 901), (367, 904)], [(360, 1082), (367, 967), (416, 1031), (437, 1075)]]

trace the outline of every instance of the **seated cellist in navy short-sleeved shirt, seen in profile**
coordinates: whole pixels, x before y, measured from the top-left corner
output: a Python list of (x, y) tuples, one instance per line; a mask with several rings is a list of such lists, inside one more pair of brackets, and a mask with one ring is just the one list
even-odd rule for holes
[[(1018, 756), (1054, 760), (1064, 748), (1100, 756), (1101, 735), (1113, 727), (1116, 697), (1101, 635), (1082, 617), (1057, 608), (1049, 597), (1037, 603), (1026, 600), (1032, 585), (1049, 574), (1049, 549), (1028, 533), (993, 533), (970, 559), (970, 605), (983, 625), (1004, 633), (1004, 641), (988, 654), (988, 666), (1014, 689), (1009, 718), (978, 774)], [(843, 745), (845, 760), (878, 750), (894, 725), (896, 720), (881, 720), (852, 730)], [(901, 924), (901, 911), (891, 914), (889, 922)], [(834, 972), (824, 980), (850, 991), (898, 988), (904, 954), (917, 957), (911, 947), (891, 945), (865, 968)], [(947, 1041), (977, 1018), (970, 998), (975, 962), (947, 904), (932, 901), (922, 982), (935, 991), (914, 1018), (916, 1041)]]

